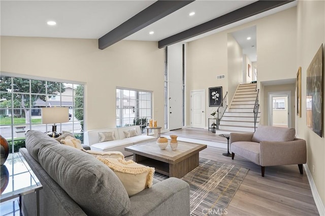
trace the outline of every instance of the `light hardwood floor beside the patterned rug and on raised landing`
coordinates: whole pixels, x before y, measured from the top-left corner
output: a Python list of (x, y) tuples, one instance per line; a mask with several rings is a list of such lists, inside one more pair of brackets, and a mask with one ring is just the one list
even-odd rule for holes
[[(210, 140), (214, 136), (207, 129), (194, 128), (166, 134), (170, 133), (192, 139), (200, 139), (206, 134)], [(232, 160), (231, 157), (223, 156), (224, 152), (225, 149), (208, 146), (200, 152), (200, 157), (249, 169), (226, 215), (319, 215), (305, 170), (301, 175), (298, 165), (268, 166), (265, 168), (265, 177), (262, 177), (261, 166), (238, 155)]]

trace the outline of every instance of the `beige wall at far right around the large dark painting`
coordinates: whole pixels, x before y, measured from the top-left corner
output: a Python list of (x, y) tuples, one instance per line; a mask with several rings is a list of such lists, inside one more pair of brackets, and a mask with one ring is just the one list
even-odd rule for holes
[[(302, 75), (302, 115), (296, 117), (298, 137), (307, 141), (307, 164), (318, 194), (325, 205), (325, 139), (316, 135), (306, 126), (306, 70), (320, 45), (325, 44), (325, 2), (324, 1), (299, 1), (297, 6), (297, 63), (296, 71), (301, 66)], [(323, 60), (324, 63), (324, 60)], [(325, 65), (323, 64), (324, 76)], [(324, 77), (323, 77), (324, 81)], [(322, 85), (324, 88), (324, 83)], [(324, 89), (323, 89), (324, 93)], [(305, 100), (304, 100), (305, 99)], [(324, 95), (322, 96), (322, 128), (325, 126)], [(305, 103), (304, 103), (305, 102)], [(313, 166), (315, 171), (313, 173)]]

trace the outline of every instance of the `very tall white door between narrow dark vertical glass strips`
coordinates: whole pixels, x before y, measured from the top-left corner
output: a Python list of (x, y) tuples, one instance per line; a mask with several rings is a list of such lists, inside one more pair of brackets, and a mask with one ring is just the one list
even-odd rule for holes
[(168, 46), (168, 128), (183, 127), (183, 45)]

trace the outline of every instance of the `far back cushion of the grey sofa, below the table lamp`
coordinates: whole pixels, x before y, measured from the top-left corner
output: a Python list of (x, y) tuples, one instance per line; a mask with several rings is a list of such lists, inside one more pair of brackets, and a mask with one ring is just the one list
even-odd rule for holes
[[(42, 137), (42, 139), (40, 139)], [(40, 131), (27, 131), (25, 135), (25, 146), (28, 153), (37, 161), (39, 162), (39, 150), (42, 145), (49, 145), (49, 144), (60, 144), (52, 137), (47, 136), (43, 132)]]

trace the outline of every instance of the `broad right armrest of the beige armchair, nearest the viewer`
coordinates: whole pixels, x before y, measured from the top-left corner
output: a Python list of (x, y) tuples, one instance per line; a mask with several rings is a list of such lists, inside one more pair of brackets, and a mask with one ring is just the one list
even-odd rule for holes
[(303, 164), (307, 162), (306, 141), (295, 139), (289, 142), (261, 141), (259, 161), (261, 166)]

